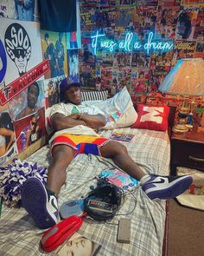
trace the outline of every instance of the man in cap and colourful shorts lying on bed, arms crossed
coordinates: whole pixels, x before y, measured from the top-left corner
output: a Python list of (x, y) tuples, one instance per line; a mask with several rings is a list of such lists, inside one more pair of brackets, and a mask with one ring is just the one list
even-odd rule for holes
[[(56, 133), (51, 142), (54, 161), (48, 167), (47, 186), (44, 187), (37, 178), (30, 178), (22, 185), (22, 206), (35, 220), (36, 226), (48, 228), (58, 222), (57, 196), (66, 181), (66, 169), (77, 154), (96, 154), (111, 158), (124, 172), (140, 181), (143, 192), (151, 200), (172, 198), (188, 189), (193, 181), (192, 177), (144, 174), (123, 144), (97, 135), (95, 130), (105, 127), (105, 116), (82, 112), (80, 83), (68, 84), (65, 78), (61, 82), (61, 90), (66, 103), (54, 105), (50, 114), (51, 126)], [(40, 199), (35, 196), (39, 194)]]

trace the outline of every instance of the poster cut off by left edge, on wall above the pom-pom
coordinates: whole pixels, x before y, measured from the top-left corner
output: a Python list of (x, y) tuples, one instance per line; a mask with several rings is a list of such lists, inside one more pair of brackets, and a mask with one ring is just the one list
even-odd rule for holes
[(6, 104), (0, 107), (0, 166), (16, 154), (16, 135)]

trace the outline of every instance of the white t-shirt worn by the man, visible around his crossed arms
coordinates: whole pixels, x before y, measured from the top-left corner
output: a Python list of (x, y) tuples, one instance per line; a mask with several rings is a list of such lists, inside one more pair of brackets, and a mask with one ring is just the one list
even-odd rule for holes
[[(66, 116), (71, 115), (73, 113), (86, 113), (89, 115), (98, 115), (98, 114), (101, 114), (101, 111), (99, 110), (99, 108), (97, 109), (96, 107), (93, 107), (93, 106), (87, 106), (87, 102), (86, 104), (83, 104), (82, 102), (80, 105), (74, 105), (72, 103), (62, 102), (59, 104), (55, 104), (52, 107), (49, 117), (51, 117), (55, 113), (61, 113)], [(77, 125), (73, 128), (66, 128), (56, 132), (52, 136), (50, 141), (53, 141), (56, 136), (62, 135), (65, 133), (71, 134), (71, 135), (90, 135), (90, 136), (97, 136), (97, 137), (99, 136), (92, 128), (86, 127), (84, 125)]]

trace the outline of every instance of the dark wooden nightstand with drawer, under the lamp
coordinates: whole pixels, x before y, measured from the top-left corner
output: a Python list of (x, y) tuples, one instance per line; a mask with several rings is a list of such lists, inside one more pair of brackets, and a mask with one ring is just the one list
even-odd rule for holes
[(170, 174), (176, 174), (176, 167), (194, 168), (204, 172), (204, 131), (198, 131), (195, 127), (188, 133), (173, 133)]

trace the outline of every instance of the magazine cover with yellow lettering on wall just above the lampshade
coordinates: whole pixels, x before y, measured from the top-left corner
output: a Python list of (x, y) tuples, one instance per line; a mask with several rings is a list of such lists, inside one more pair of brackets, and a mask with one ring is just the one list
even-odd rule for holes
[(174, 54), (172, 57), (171, 65), (175, 65), (177, 60), (182, 58), (193, 58), (194, 56), (194, 49), (195, 49), (195, 42), (194, 41), (175, 41), (175, 48)]

